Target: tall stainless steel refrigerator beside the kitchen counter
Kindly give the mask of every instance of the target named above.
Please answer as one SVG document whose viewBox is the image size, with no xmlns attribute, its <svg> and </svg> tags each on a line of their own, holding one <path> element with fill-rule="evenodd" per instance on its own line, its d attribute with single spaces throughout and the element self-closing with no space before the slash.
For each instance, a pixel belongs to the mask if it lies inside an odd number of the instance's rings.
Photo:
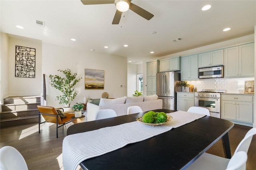
<svg viewBox="0 0 256 170">
<path fill-rule="evenodd" d="M 176 83 L 180 81 L 179 72 L 160 72 L 156 74 L 156 94 L 163 100 L 163 109 L 176 110 L 176 92 L 181 91 Z"/>
</svg>

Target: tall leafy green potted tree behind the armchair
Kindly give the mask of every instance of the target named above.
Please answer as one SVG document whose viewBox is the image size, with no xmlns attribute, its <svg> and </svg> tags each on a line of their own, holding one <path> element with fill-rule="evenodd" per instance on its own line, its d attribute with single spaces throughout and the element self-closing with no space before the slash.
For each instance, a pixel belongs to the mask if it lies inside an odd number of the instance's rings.
<svg viewBox="0 0 256 170">
<path fill-rule="evenodd" d="M 50 85 L 62 92 L 62 96 L 56 97 L 56 99 L 59 100 L 59 104 L 66 104 L 67 107 L 70 107 L 71 102 L 77 95 L 77 92 L 74 91 L 73 87 L 82 79 L 82 77 L 76 78 L 77 73 L 72 74 L 70 69 L 58 71 L 62 72 L 65 77 L 49 75 Z"/>
</svg>

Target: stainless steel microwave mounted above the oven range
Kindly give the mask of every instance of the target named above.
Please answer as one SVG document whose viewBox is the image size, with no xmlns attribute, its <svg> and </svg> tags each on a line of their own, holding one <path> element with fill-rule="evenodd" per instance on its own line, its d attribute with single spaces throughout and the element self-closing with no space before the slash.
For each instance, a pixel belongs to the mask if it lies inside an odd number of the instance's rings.
<svg viewBox="0 0 256 170">
<path fill-rule="evenodd" d="M 215 66 L 208 68 L 199 68 L 199 78 L 221 78 L 224 77 L 224 69 L 223 66 Z"/>
</svg>

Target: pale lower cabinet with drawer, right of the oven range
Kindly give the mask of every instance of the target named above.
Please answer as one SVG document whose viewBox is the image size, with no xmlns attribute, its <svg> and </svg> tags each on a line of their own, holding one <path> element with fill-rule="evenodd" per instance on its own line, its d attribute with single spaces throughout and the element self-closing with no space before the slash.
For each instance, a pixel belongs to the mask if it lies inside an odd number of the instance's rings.
<svg viewBox="0 0 256 170">
<path fill-rule="evenodd" d="M 236 124 L 252 126 L 254 95 L 222 94 L 221 118 Z"/>
</svg>

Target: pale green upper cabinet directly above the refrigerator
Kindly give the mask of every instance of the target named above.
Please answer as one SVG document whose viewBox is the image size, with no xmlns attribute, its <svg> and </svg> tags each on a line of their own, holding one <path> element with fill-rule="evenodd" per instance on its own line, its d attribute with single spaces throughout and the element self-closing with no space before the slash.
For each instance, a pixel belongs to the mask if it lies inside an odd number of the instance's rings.
<svg viewBox="0 0 256 170">
<path fill-rule="evenodd" d="M 160 60 L 159 71 L 178 71 L 180 70 L 180 56 L 171 59 Z"/>
</svg>

